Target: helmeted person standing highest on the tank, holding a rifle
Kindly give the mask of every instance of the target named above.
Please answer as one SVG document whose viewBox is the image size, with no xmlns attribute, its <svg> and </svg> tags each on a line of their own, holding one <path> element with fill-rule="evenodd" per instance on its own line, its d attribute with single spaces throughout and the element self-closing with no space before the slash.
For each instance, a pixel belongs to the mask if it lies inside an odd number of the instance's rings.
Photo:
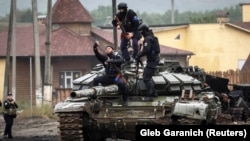
<svg viewBox="0 0 250 141">
<path fill-rule="evenodd" d="M 132 39 L 133 46 L 133 58 L 138 53 L 138 40 L 140 38 L 140 34 L 138 33 L 139 19 L 137 14 L 132 10 L 128 9 L 127 3 L 121 2 L 118 4 L 119 12 L 116 14 L 112 24 L 117 29 L 124 29 L 121 33 L 121 52 L 122 56 L 125 59 L 125 63 L 131 63 L 132 58 L 129 56 L 129 52 L 127 46 L 129 44 L 130 39 Z M 123 27 L 123 28 L 122 28 Z"/>
</svg>

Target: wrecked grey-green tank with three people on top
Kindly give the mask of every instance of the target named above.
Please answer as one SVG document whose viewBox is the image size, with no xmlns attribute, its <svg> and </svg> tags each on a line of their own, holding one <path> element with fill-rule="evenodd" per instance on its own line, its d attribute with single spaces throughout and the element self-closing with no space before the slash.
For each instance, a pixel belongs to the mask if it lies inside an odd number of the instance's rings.
<svg viewBox="0 0 250 141">
<path fill-rule="evenodd" d="M 203 69 L 184 68 L 178 61 L 161 60 L 153 76 L 158 96 L 146 102 L 144 66 L 132 63 L 121 70 L 130 91 L 126 106 L 122 105 L 117 85 L 92 86 L 93 79 L 104 74 L 101 64 L 74 80 L 70 97 L 54 108 L 61 140 L 135 140 L 135 126 L 139 124 L 168 125 L 178 122 L 180 117 L 199 122 L 215 120 L 220 104 L 212 91 L 203 91 L 206 79 Z M 191 101 L 187 101 L 186 92 L 192 92 L 188 96 Z M 184 107 L 188 110 L 180 110 Z"/>
</svg>

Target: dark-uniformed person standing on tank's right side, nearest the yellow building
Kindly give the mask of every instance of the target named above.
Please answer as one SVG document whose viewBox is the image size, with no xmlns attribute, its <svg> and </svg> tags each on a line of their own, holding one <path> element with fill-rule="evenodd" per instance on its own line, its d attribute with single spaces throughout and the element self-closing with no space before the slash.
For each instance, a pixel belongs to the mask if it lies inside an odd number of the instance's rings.
<svg viewBox="0 0 250 141">
<path fill-rule="evenodd" d="M 144 37 L 143 40 L 143 49 L 136 56 L 136 62 L 138 64 L 141 57 L 147 57 L 146 67 L 143 71 L 143 82 L 146 86 L 146 97 L 145 101 L 152 101 L 153 97 L 157 96 L 157 93 L 154 89 L 154 83 L 152 77 L 155 73 L 156 66 L 159 64 L 160 57 L 159 51 L 155 52 L 155 36 L 153 35 L 152 30 L 149 30 L 149 27 L 146 24 L 142 24 L 138 27 L 139 32 Z M 158 41 L 157 41 L 158 43 Z M 158 47 L 159 48 L 159 47 Z M 158 49 L 159 50 L 159 49 Z"/>
</svg>

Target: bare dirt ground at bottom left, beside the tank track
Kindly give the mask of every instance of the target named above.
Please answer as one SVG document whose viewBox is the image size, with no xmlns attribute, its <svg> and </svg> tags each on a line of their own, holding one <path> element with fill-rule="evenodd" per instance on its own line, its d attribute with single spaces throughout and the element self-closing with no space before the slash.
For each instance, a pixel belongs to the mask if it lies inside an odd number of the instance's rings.
<svg viewBox="0 0 250 141">
<path fill-rule="evenodd" d="M 56 119 L 17 117 L 12 127 L 13 139 L 3 139 L 5 122 L 0 114 L 0 141 L 58 141 L 58 124 Z"/>
</svg>

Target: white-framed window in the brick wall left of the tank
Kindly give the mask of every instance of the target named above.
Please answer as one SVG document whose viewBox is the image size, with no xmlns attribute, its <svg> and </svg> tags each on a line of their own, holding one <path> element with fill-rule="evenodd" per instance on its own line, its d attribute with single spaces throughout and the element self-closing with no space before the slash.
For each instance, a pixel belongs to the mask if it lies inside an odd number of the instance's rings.
<svg viewBox="0 0 250 141">
<path fill-rule="evenodd" d="M 59 85 L 60 88 L 73 88 L 73 80 L 81 76 L 80 71 L 60 72 Z"/>
</svg>

